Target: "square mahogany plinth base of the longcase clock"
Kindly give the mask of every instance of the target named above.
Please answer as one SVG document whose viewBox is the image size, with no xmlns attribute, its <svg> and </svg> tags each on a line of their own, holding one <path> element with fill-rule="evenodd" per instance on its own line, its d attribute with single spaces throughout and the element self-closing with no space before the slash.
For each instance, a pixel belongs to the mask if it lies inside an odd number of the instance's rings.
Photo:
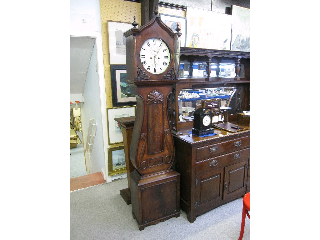
<svg viewBox="0 0 320 240">
<path fill-rule="evenodd" d="M 139 230 L 180 216 L 180 173 L 167 169 L 141 175 L 130 173 L 132 216 Z"/>
</svg>

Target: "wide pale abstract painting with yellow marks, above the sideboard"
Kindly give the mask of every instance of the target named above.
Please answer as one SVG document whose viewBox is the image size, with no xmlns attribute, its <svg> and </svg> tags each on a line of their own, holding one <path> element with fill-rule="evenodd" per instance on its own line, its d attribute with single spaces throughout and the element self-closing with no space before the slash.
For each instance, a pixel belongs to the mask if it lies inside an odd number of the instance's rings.
<svg viewBox="0 0 320 240">
<path fill-rule="evenodd" d="M 232 16 L 187 7 L 186 47 L 230 50 Z"/>
</svg>

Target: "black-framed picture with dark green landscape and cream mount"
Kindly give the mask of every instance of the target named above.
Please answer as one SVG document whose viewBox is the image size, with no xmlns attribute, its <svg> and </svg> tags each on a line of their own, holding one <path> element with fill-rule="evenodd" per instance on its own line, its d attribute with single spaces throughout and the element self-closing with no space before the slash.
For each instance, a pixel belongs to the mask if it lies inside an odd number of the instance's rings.
<svg viewBox="0 0 320 240">
<path fill-rule="evenodd" d="M 127 70 L 125 65 L 111 65 L 111 93 L 112 106 L 123 107 L 137 103 L 136 97 L 131 93 L 131 86 L 127 84 Z"/>
</svg>

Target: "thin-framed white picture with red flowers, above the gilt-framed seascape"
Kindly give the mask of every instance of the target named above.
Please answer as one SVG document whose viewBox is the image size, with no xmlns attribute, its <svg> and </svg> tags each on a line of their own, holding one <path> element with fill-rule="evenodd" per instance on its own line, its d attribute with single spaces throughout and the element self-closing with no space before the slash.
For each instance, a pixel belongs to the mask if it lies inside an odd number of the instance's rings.
<svg viewBox="0 0 320 240">
<path fill-rule="evenodd" d="M 123 108 L 107 108 L 108 119 L 108 140 L 109 144 L 123 142 L 122 130 L 118 126 L 115 118 L 135 116 L 136 106 L 128 106 Z"/>
</svg>

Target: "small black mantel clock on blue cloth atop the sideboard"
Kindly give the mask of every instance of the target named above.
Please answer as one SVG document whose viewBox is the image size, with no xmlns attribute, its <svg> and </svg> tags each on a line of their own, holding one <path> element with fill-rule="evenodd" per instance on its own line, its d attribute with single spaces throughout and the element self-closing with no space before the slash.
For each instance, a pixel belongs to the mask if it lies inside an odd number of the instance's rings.
<svg viewBox="0 0 320 240">
<path fill-rule="evenodd" d="M 192 134 L 202 137 L 212 133 L 214 133 L 212 112 L 206 108 L 198 108 L 193 113 Z"/>
</svg>

